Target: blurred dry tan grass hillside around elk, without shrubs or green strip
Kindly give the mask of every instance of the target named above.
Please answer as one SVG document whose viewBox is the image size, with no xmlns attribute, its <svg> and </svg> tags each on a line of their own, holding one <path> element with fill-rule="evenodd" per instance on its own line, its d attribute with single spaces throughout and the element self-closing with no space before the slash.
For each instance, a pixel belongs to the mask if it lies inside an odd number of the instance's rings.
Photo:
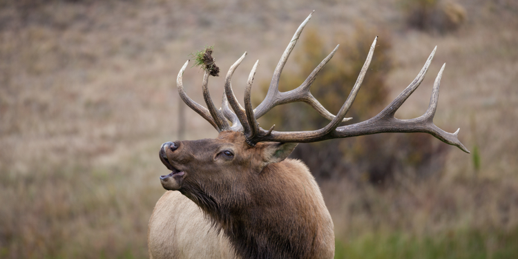
<svg viewBox="0 0 518 259">
<path fill-rule="evenodd" d="M 28 8 L 4 1 L 0 257 L 146 257 L 147 220 L 163 193 L 157 150 L 177 137 L 179 104 L 171 88 L 180 66 L 189 53 L 213 45 L 223 72 L 249 52 L 235 87 L 244 85 L 256 59 L 256 78 L 267 78 L 314 9 L 309 26 L 325 39 L 352 32 L 358 21 L 392 34 L 390 97 L 439 46 L 430 75 L 397 115 L 425 111 L 433 74 L 446 62 L 435 122 L 447 131 L 460 127 L 461 140 L 478 147 L 481 161 L 475 169 L 472 155 L 452 147 L 443 171 L 426 181 L 405 178 L 386 189 L 322 182 L 337 237 L 354 243 L 378 231 L 516 231 L 517 4 L 459 1 L 467 23 L 439 36 L 406 30 L 397 2 L 49 1 Z M 184 75 L 198 102 L 201 79 L 195 68 Z M 222 86 L 222 78 L 211 79 L 212 96 L 221 96 Z M 192 118 L 186 138 L 216 135 L 192 111 L 186 117 Z M 499 247 L 490 238 L 485 244 L 488 251 Z"/>
</svg>

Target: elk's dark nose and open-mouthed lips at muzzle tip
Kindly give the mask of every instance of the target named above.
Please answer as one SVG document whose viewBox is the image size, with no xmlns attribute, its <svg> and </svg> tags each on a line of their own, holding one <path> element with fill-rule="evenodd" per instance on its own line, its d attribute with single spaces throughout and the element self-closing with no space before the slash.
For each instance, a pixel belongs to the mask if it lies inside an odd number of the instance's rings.
<svg viewBox="0 0 518 259">
<path fill-rule="evenodd" d="M 162 144 L 160 148 L 160 160 L 167 167 L 167 169 L 171 170 L 171 173 L 168 175 L 160 175 L 160 183 L 162 183 L 162 187 L 166 190 L 176 191 L 182 187 L 185 178 L 185 172 L 176 169 L 169 158 L 167 157 L 168 153 L 175 152 L 180 145 L 175 142 L 166 142 Z"/>
</svg>

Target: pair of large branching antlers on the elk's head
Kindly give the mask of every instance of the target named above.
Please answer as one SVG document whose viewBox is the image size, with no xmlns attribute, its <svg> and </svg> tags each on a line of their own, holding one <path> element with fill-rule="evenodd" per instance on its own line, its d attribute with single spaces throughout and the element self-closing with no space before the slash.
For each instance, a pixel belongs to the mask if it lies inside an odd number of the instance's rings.
<svg viewBox="0 0 518 259">
<path fill-rule="evenodd" d="M 244 56 L 247 55 L 246 52 L 244 53 L 244 55 L 242 55 L 242 57 L 240 57 L 240 59 L 238 59 L 238 61 L 236 61 L 235 64 L 231 66 L 231 68 L 229 69 L 229 73 L 227 73 L 227 77 L 225 79 L 225 93 L 222 104 L 222 113 L 214 108 L 212 101 L 210 100 L 209 92 L 207 90 L 207 73 L 204 76 L 203 89 L 205 102 L 207 103 L 207 107 L 209 109 L 207 110 L 207 108 L 204 108 L 199 104 L 196 104 L 191 99 L 189 99 L 189 97 L 186 96 L 182 86 L 182 73 L 187 63 L 182 67 L 182 70 L 180 70 L 180 74 L 178 75 L 177 83 L 180 96 L 189 107 L 193 108 L 194 111 L 202 115 L 204 119 L 207 119 L 207 121 L 209 121 L 216 129 L 218 129 L 218 131 L 243 131 L 244 135 L 246 136 L 247 143 L 251 146 L 255 145 L 258 142 L 267 141 L 308 143 L 329 140 L 334 138 L 355 137 L 360 135 L 370 135 L 376 133 L 422 132 L 429 133 L 430 135 L 437 137 L 439 140 L 447 144 L 457 146 L 462 151 L 470 153 L 470 151 L 468 151 L 468 149 L 466 149 L 466 147 L 463 146 L 463 144 L 457 138 L 460 128 L 457 129 L 455 133 L 447 133 L 443 131 L 441 128 L 435 126 L 435 124 L 433 123 L 435 111 L 437 110 L 437 101 L 439 99 L 439 86 L 441 84 L 441 76 L 443 74 L 445 64 L 443 65 L 443 67 L 439 71 L 439 74 L 437 75 L 437 78 L 435 79 L 432 97 L 430 98 L 430 105 L 428 106 L 428 110 L 426 111 L 426 113 L 414 119 L 396 119 L 396 117 L 394 117 L 394 114 L 399 109 L 399 107 L 401 107 L 403 102 L 405 102 L 405 100 L 408 97 L 410 97 L 412 93 L 414 93 L 414 90 L 416 90 L 416 88 L 423 81 L 425 74 L 428 71 L 428 68 L 430 67 L 430 63 L 432 62 L 437 46 L 434 48 L 434 50 L 428 57 L 428 60 L 425 62 L 425 65 L 423 66 L 419 74 L 416 76 L 414 81 L 412 81 L 412 83 L 409 86 L 407 86 L 407 88 L 405 88 L 405 90 L 403 90 L 403 92 L 400 95 L 398 95 L 398 97 L 396 97 L 394 101 L 392 101 L 387 107 L 385 107 L 383 111 L 381 111 L 381 113 L 378 113 L 378 115 L 372 117 L 371 119 L 367 119 L 364 122 L 358 122 L 356 124 L 351 124 L 347 126 L 339 126 L 341 122 L 346 122 L 349 119 L 351 119 L 345 118 L 345 115 L 347 114 L 347 111 L 349 111 L 349 108 L 354 102 L 354 99 L 358 94 L 358 90 L 360 89 L 363 78 L 365 77 L 365 73 L 367 73 L 367 69 L 369 68 L 372 55 L 374 54 L 374 48 L 376 46 L 376 41 L 378 37 L 374 39 L 369 54 L 367 55 L 367 59 L 365 59 L 365 64 L 363 64 L 360 74 L 358 75 L 358 79 L 356 79 L 356 83 L 354 84 L 351 93 L 349 93 L 349 97 L 347 97 L 345 103 L 340 108 L 340 111 L 338 111 L 338 114 L 336 116 L 332 115 L 332 113 L 329 113 L 329 111 L 327 111 L 313 97 L 313 95 L 311 95 L 311 93 L 309 92 L 309 88 L 311 87 L 311 84 L 313 84 L 313 82 L 315 81 L 318 72 L 320 72 L 320 70 L 322 70 L 325 64 L 327 64 L 327 62 L 333 57 L 334 53 L 338 49 L 338 46 L 336 46 L 336 48 L 334 48 L 334 50 L 329 55 L 327 55 L 327 57 L 323 61 L 320 62 L 320 64 L 303 82 L 303 84 L 301 84 L 294 90 L 280 92 L 278 90 L 278 84 L 280 79 L 280 73 L 282 73 L 282 68 L 284 68 L 289 54 L 291 53 L 291 50 L 293 50 L 296 41 L 298 41 L 298 38 L 300 37 L 300 33 L 305 27 L 307 21 L 309 21 L 309 19 L 311 18 L 312 13 L 313 12 L 311 12 L 311 14 L 305 19 L 305 21 L 303 21 L 303 23 L 300 24 L 298 30 L 295 32 L 294 37 L 289 42 L 285 52 L 282 54 L 282 57 L 280 58 L 276 70 L 274 71 L 274 76 L 271 79 L 268 93 L 265 99 L 261 102 L 261 104 L 259 104 L 259 106 L 257 106 L 255 110 L 252 108 L 250 102 L 250 95 L 253 76 L 256 73 L 258 61 L 253 66 L 251 73 L 249 75 L 249 79 L 247 81 L 247 88 L 244 93 L 244 108 L 242 108 L 242 106 L 237 101 L 236 96 L 233 94 L 233 90 L 231 87 L 231 77 L 233 75 L 233 72 L 244 59 Z M 316 131 L 273 131 L 275 125 L 271 126 L 271 128 L 268 131 L 266 131 L 265 129 L 259 126 L 257 122 L 257 119 L 259 117 L 265 115 L 265 113 L 267 113 L 269 110 L 271 110 L 271 108 L 274 108 L 275 106 L 278 106 L 280 104 L 287 104 L 290 102 L 306 102 L 310 104 L 312 107 L 314 107 L 316 111 L 320 113 L 320 115 L 323 115 L 323 117 L 331 120 L 331 122 L 329 122 L 329 124 L 327 124 L 327 126 L 325 126 L 324 128 L 320 128 Z M 230 104 L 234 113 L 230 111 L 228 104 Z M 228 123 L 224 119 L 222 119 L 223 115 L 233 122 L 232 127 L 229 127 Z"/>
</svg>

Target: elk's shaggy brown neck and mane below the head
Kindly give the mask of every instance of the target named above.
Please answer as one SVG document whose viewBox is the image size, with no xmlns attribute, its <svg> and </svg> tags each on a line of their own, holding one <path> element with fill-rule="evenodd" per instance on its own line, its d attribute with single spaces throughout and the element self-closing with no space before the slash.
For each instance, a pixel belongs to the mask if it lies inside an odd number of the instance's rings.
<svg viewBox="0 0 518 259">
<path fill-rule="evenodd" d="M 253 185 L 218 186 L 227 189 L 219 198 L 213 186 L 194 182 L 185 182 L 180 191 L 224 231 L 241 258 L 316 258 L 323 215 L 319 201 L 308 197 L 316 183 L 307 179 L 312 177 L 305 166 L 285 160 L 254 175 Z M 294 186 L 300 188 L 293 191 Z"/>
</svg>

